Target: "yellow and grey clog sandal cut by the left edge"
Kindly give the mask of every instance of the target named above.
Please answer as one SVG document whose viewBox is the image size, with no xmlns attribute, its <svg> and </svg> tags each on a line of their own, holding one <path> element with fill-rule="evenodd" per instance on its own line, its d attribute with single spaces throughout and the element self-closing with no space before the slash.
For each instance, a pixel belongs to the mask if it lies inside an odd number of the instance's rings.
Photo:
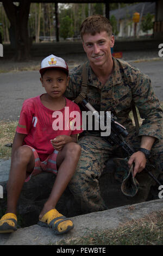
<svg viewBox="0 0 163 256">
<path fill-rule="evenodd" d="M 17 217 L 15 214 L 5 214 L 0 220 L 0 234 L 12 233 L 17 230 Z"/>
</svg>

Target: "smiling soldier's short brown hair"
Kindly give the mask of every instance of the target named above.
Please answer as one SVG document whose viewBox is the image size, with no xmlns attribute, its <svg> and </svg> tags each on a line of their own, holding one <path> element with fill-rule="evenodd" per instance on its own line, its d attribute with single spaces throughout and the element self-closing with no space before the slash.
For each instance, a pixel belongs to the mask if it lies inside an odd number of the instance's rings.
<svg viewBox="0 0 163 256">
<path fill-rule="evenodd" d="M 96 33 L 100 33 L 106 31 L 109 36 L 112 35 L 112 26 L 110 21 L 99 14 L 92 15 L 90 17 L 87 17 L 81 27 L 80 27 L 80 36 L 83 40 L 84 34 L 91 34 L 95 35 Z"/>
</svg>

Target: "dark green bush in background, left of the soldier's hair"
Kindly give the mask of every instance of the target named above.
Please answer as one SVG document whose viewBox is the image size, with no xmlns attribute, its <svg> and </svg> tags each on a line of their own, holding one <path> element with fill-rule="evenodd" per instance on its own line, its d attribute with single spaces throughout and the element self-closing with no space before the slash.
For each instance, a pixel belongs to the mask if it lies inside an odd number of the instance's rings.
<svg viewBox="0 0 163 256">
<path fill-rule="evenodd" d="M 73 36 L 72 19 L 68 16 L 63 17 L 60 22 L 60 36 L 64 39 Z"/>
</svg>

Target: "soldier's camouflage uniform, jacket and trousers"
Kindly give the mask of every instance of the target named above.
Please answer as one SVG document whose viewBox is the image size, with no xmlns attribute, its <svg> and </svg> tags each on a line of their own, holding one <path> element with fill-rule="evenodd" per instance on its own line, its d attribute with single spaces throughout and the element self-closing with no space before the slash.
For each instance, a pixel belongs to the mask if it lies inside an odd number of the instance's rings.
<svg viewBox="0 0 163 256">
<path fill-rule="evenodd" d="M 155 174 L 158 176 L 163 166 L 163 114 L 159 101 L 153 92 L 148 76 L 123 60 L 113 58 L 113 61 L 114 71 L 104 86 L 98 81 L 87 62 L 88 92 L 86 99 L 97 111 L 111 111 L 116 115 L 118 123 L 125 126 L 129 132 L 127 142 L 135 149 L 140 147 L 141 136 L 147 135 L 156 138 L 152 148 L 152 161 L 157 167 Z M 82 70 L 83 65 L 70 72 L 71 80 L 66 90 L 66 97 L 70 100 L 74 100 L 79 95 Z M 140 117 L 144 119 L 138 135 L 129 118 L 132 100 L 139 109 Z M 100 195 L 98 179 L 103 172 L 105 162 L 115 154 L 115 151 L 117 152 L 117 146 L 112 147 L 106 143 L 99 137 L 97 131 L 84 131 L 79 139 L 79 144 L 82 147 L 82 155 L 70 183 L 70 189 L 80 202 L 84 212 L 105 210 L 106 206 Z M 146 200 L 153 180 L 143 171 L 136 174 L 136 179 L 140 182 L 140 202 Z M 145 191 L 147 184 L 148 189 Z"/>
</svg>

